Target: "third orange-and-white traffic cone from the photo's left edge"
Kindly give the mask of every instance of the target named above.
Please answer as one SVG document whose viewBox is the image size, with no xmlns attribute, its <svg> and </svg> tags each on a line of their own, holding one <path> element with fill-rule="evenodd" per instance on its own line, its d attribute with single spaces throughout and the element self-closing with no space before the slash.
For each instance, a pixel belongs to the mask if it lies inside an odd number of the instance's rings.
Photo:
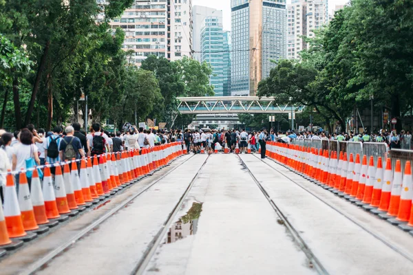
<svg viewBox="0 0 413 275">
<path fill-rule="evenodd" d="M 23 168 L 21 169 L 23 170 Z M 30 191 L 28 179 L 25 172 L 21 172 L 19 175 L 19 206 L 21 211 L 21 221 L 23 221 L 24 230 L 36 230 L 39 229 L 39 225 L 34 218 L 34 211 L 32 206 L 32 200 L 30 199 Z"/>
</svg>

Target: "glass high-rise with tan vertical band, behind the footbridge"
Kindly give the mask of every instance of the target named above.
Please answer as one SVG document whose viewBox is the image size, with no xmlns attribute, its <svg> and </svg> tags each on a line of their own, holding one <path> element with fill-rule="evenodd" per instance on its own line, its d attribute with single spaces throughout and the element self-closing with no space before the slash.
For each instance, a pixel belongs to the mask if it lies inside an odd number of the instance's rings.
<svg viewBox="0 0 413 275">
<path fill-rule="evenodd" d="M 231 94 L 255 96 L 258 83 L 286 58 L 286 0 L 231 0 Z"/>
</svg>

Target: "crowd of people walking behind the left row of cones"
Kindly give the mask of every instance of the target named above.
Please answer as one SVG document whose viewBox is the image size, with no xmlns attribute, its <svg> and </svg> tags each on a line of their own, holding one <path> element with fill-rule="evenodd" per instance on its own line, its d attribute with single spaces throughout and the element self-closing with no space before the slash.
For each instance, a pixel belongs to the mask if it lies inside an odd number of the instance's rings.
<svg viewBox="0 0 413 275">
<path fill-rule="evenodd" d="M 54 164 L 129 148 L 148 148 L 175 141 L 183 141 L 180 130 L 147 130 L 131 126 L 129 129 L 109 133 L 99 123 L 92 124 L 89 133 L 85 133 L 77 122 L 65 129 L 55 126 L 48 132 L 35 129 L 33 124 L 14 133 L 0 129 L 0 197 L 3 199 L 2 186 L 6 185 L 6 173 L 9 170 L 19 172 L 46 163 Z M 54 174 L 54 167 L 51 172 Z M 14 174 L 19 192 L 19 175 Z M 29 186 L 30 181 L 28 178 Z"/>
</svg>

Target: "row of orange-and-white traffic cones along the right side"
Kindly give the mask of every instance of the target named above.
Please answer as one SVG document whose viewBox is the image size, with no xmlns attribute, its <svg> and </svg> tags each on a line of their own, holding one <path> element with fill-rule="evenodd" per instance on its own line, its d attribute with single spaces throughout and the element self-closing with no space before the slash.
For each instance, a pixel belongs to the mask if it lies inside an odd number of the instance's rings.
<svg viewBox="0 0 413 275">
<path fill-rule="evenodd" d="M 405 231 L 413 234 L 413 182 L 410 162 L 392 162 L 378 157 L 322 150 L 293 144 L 269 142 L 267 156 L 275 159 L 323 186 L 340 197 L 348 199 Z"/>
</svg>

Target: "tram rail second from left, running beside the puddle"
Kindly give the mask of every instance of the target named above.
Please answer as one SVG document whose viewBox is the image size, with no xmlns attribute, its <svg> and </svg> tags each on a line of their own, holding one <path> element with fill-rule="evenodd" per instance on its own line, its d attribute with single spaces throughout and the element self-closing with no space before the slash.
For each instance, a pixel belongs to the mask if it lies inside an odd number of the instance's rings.
<svg viewBox="0 0 413 275">
<path fill-rule="evenodd" d="M 198 179 L 198 176 L 200 175 L 200 172 L 202 171 L 204 166 L 207 164 L 208 159 L 209 159 L 209 155 L 208 155 L 207 159 L 205 159 L 202 166 L 198 169 L 198 172 L 195 174 L 193 179 L 191 179 L 191 181 L 189 182 L 189 185 L 187 186 L 184 193 L 180 197 L 178 203 L 176 203 L 173 210 L 168 215 L 167 220 L 163 223 L 161 228 L 158 230 L 157 234 L 153 237 L 153 239 L 147 245 L 147 249 L 145 250 L 145 252 L 141 256 L 140 261 L 138 262 L 138 264 L 136 265 L 134 270 L 132 270 L 130 272 L 131 275 L 135 275 L 135 274 L 136 275 L 141 275 L 141 274 L 145 273 L 147 265 L 151 261 L 151 259 L 153 257 L 153 254 L 155 254 L 155 252 L 158 249 L 162 239 L 167 234 L 167 232 L 169 230 L 169 227 L 171 226 L 173 221 L 175 221 L 176 215 L 180 211 L 180 208 L 182 207 L 182 204 L 184 203 L 185 199 L 187 199 L 187 196 L 188 196 L 189 192 L 191 191 L 191 189 L 193 187 L 193 184 L 195 184 L 195 181 Z"/>
</svg>

